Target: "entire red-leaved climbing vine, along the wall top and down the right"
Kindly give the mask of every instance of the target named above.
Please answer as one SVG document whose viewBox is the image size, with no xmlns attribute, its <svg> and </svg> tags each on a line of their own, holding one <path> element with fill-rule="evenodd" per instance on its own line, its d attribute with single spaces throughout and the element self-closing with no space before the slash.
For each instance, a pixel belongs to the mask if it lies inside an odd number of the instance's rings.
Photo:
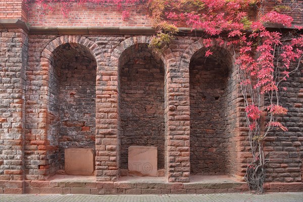
<svg viewBox="0 0 303 202">
<path fill-rule="evenodd" d="M 32 0 L 26 0 L 28 2 Z M 265 10 L 265 0 L 35 0 L 41 8 L 52 9 L 52 3 L 62 4 L 62 13 L 67 16 L 69 5 L 78 2 L 111 4 L 122 10 L 127 19 L 127 6 L 144 4 L 154 20 L 156 35 L 150 46 L 161 48 L 170 43 L 178 33 L 177 27 L 201 29 L 204 45 L 209 48 L 205 56 L 212 55 L 211 38 L 219 44 L 232 47 L 236 58 L 239 83 L 244 98 L 244 110 L 251 148 L 251 162 L 248 163 L 244 179 L 251 190 L 262 193 L 265 180 L 266 160 L 263 142 L 273 129 L 286 131 L 277 121 L 287 109 L 279 102 L 281 83 L 298 71 L 303 64 L 303 35 L 300 27 L 282 34 L 269 31 L 270 24 L 291 27 L 291 13 L 294 0 L 277 0 L 271 11 Z M 251 13 L 252 12 L 252 13 Z M 264 103 L 264 99 L 267 102 Z M 266 119 L 267 118 L 267 119 Z M 266 123 L 265 123 L 266 121 Z"/>
</svg>

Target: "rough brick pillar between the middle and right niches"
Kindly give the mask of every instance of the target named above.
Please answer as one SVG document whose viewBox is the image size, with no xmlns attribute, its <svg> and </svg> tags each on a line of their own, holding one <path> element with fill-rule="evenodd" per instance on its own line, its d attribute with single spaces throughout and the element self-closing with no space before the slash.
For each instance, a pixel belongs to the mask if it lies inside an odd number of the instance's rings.
<svg viewBox="0 0 303 202">
<path fill-rule="evenodd" d="M 166 171 L 169 182 L 189 182 L 189 65 L 177 67 L 175 58 L 166 58 Z"/>
</svg>

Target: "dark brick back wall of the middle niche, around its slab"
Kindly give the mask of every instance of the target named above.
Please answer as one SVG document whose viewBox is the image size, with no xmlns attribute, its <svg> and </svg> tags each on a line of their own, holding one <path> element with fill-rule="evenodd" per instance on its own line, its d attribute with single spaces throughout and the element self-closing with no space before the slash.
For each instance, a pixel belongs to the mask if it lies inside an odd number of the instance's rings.
<svg viewBox="0 0 303 202">
<path fill-rule="evenodd" d="M 131 145 L 157 146 L 158 168 L 164 168 L 164 68 L 147 46 L 133 46 L 121 56 L 122 169 L 128 168 Z"/>
</svg>

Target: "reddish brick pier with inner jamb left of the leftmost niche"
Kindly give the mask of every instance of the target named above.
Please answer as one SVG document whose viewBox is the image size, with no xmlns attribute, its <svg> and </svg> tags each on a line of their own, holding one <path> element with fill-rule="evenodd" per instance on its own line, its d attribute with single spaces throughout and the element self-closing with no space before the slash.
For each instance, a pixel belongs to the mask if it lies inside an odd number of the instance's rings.
<svg viewBox="0 0 303 202">
<path fill-rule="evenodd" d="M 30 43 L 31 51 L 37 48 L 38 44 Z M 54 45 L 52 48 L 47 45 L 44 50 L 29 54 L 26 72 L 26 180 L 43 180 L 57 171 L 58 138 L 54 135 L 57 132 L 54 122 L 58 119 L 58 112 L 54 110 L 53 103 L 57 99 L 58 90 L 54 86 L 58 81 L 52 76 L 55 75 L 54 67 L 49 62 L 54 60 L 52 52 L 55 48 Z M 40 63 L 36 65 L 35 62 L 39 60 Z"/>
</svg>

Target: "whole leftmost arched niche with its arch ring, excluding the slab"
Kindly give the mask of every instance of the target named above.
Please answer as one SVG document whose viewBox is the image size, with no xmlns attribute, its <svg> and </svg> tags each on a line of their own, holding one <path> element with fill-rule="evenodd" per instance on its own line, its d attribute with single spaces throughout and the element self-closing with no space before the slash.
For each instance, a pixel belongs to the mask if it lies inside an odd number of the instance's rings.
<svg viewBox="0 0 303 202">
<path fill-rule="evenodd" d="M 96 71 L 104 60 L 98 45 L 80 35 L 57 37 L 43 49 L 42 81 L 37 77 L 32 84 L 46 92 L 41 95 L 46 100 L 41 124 L 35 130 L 45 134 L 45 141 L 39 142 L 44 164 L 30 173 L 54 175 L 64 170 L 65 148 L 95 148 Z"/>
</svg>

